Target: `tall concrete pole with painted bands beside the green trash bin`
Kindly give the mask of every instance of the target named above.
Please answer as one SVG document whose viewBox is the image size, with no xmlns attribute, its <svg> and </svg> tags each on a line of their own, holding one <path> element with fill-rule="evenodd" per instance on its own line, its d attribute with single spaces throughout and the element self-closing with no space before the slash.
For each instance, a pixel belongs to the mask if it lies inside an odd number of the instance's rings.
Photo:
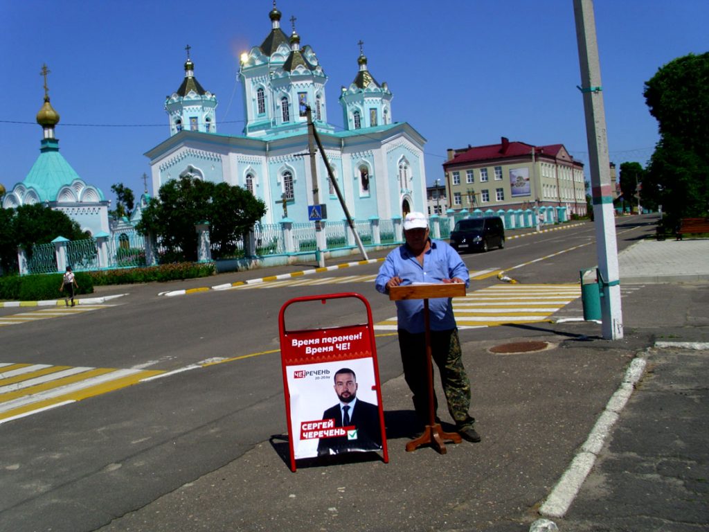
<svg viewBox="0 0 709 532">
<path fill-rule="evenodd" d="M 592 0 L 574 0 L 576 40 L 581 66 L 581 93 L 586 114 L 588 159 L 591 166 L 591 197 L 593 219 L 596 225 L 596 253 L 598 255 L 598 282 L 603 289 L 601 318 L 603 338 L 623 338 L 623 314 L 620 308 L 620 280 L 618 270 L 618 242 L 613 219 L 613 190 L 610 186 L 608 137 L 605 131 L 601 62 L 598 59 L 596 20 Z"/>
</svg>

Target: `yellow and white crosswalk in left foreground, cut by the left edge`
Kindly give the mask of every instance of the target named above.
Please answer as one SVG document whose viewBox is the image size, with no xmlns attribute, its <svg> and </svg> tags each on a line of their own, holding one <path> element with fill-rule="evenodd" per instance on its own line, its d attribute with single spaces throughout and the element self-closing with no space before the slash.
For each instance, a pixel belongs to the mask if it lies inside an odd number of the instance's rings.
<svg viewBox="0 0 709 532">
<path fill-rule="evenodd" d="M 0 362 L 0 423 L 105 394 L 162 373 Z"/>
</svg>

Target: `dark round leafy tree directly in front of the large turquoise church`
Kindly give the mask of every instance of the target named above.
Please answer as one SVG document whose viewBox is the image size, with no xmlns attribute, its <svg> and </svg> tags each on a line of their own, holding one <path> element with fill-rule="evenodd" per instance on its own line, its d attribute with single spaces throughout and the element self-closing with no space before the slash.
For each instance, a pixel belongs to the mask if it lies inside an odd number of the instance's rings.
<svg viewBox="0 0 709 532">
<path fill-rule="evenodd" d="M 196 223 L 210 224 L 211 242 L 225 254 L 266 214 L 264 202 L 247 190 L 190 176 L 169 180 L 158 196 L 143 209 L 138 231 L 152 233 L 171 258 L 182 260 L 197 258 Z"/>
</svg>

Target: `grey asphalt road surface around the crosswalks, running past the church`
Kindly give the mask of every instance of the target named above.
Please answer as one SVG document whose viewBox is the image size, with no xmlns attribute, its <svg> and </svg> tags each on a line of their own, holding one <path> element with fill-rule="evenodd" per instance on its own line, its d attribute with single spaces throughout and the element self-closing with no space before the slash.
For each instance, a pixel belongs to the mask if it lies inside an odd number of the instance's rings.
<svg viewBox="0 0 709 532">
<path fill-rule="evenodd" d="M 647 218 L 623 220 L 617 228 L 619 250 L 652 231 Z M 523 283 L 574 283 L 581 268 L 596 265 L 595 233 L 586 223 L 510 238 L 503 250 L 464 260 L 471 271 L 504 270 Z M 373 275 L 377 269 L 362 265 L 313 277 Z M 220 282 L 128 287 L 127 295 L 114 300 L 116 306 L 0 328 L 0 362 L 167 373 L 0 424 L 0 530 L 96 530 L 284 433 L 278 314 L 286 300 L 359 292 L 372 305 L 374 323 L 395 314 L 371 282 L 354 280 L 158 295 Z M 469 292 L 498 283 L 494 276 L 474 281 Z M 286 318 L 304 328 L 362 322 L 357 306 L 326 307 Z M 580 316 L 580 308 L 576 300 L 559 314 Z M 13 312 L 0 309 L 0 316 Z M 519 333 L 496 327 L 461 336 L 470 342 Z M 401 375 L 396 336 L 378 335 L 376 343 L 381 381 L 393 381 Z M 207 360 L 220 363 L 204 365 Z M 276 466 L 286 467 L 281 460 Z"/>
</svg>

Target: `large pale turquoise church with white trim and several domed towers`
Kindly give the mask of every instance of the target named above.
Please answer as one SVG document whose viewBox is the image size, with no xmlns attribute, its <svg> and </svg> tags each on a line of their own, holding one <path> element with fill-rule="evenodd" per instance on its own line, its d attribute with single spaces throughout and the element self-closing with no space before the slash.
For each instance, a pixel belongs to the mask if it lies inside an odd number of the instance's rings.
<svg viewBox="0 0 709 532">
<path fill-rule="evenodd" d="M 316 172 L 311 172 L 309 106 L 352 218 L 389 219 L 424 211 L 425 138 L 408 123 L 393 121 L 393 95 L 369 72 L 362 43 L 354 80 L 340 92 L 344 127 L 337 131 L 328 121 L 328 78 L 313 48 L 301 47 L 295 28 L 290 36 L 281 30 L 281 12 L 275 6 L 269 18 L 267 37 L 240 57 L 242 135 L 218 133 L 216 96 L 197 82 L 187 48 L 184 80 L 165 102 L 170 136 L 145 153 L 154 193 L 183 175 L 227 182 L 264 201 L 262 223 L 277 223 L 286 216 L 308 221 L 313 189 L 318 189 L 328 220 L 341 221 L 345 212 L 320 153 Z"/>
</svg>

